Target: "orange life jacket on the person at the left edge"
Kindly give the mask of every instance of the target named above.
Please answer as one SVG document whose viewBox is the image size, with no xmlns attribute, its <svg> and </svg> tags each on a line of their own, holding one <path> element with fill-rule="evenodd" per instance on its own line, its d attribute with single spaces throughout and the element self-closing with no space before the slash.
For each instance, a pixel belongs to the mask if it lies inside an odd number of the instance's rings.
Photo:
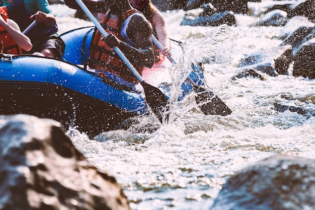
<svg viewBox="0 0 315 210">
<path fill-rule="evenodd" d="M 0 7 L 0 14 L 3 19 L 7 22 L 9 19 L 7 8 Z M 0 26 L 0 39 L 3 42 L 3 52 L 7 54 L 22 54 L 22 48 L 17 45 L 15 40 L 11 37 L 11 35 L 6 31 L 6 29 Z"/>
</svg>

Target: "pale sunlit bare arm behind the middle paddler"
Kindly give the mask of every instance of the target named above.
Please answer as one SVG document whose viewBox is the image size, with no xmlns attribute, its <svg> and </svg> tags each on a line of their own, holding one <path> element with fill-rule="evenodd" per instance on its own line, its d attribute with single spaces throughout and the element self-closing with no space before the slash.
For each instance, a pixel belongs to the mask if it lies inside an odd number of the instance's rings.
<svg viewBox="0 0 315 210">
<path fill-rule="evenodd" d="M 165 56 L 172 56 L 171 43 L 165 26 L 165 20 L 160 12 L 155 12 L 152 17 L 152 25 L 154 26 L 157 37 L 155 37 L 164 46 L 160 52 Z"/>
</svg>

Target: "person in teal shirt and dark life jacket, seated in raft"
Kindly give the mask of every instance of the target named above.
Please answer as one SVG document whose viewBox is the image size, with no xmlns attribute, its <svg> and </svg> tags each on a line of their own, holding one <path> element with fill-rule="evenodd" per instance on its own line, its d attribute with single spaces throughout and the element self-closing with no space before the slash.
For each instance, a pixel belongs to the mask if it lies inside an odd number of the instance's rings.
<svg viewBox="0 0 315 210">
<path fill-rule="evenodd" d="M 30 53 L 62 58 L 65 44 L 57 34 L 56 19 L 47 0 L 3 0 L 2 3 L 7 7 L 10 19 L 22 31 L 36 20 L 36 26 L 26 34 L 33 44 Z"/>
</svg>

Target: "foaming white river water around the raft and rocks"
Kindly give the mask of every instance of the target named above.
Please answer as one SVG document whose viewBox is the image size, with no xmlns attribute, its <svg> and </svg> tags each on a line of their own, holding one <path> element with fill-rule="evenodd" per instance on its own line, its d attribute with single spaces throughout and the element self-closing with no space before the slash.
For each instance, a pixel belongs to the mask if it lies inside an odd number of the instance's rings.
<svg viewBox="0 0 315 210">
<path fill-rule="evenodd" d="M 93 25 L 72 18 L 74 12 L 64 6 L 54 5 L 53 11 L 60 33 Z M 305 100 L 291 101 L 302 107 L 312 105 L 314 80 L 291 75 L 230 80 L 241 58 L 262 49 L 272 53 L 285 28 L 252 27 L 257 18 L 244 15 L 237 15 L 234 27 L 181 26 L 184 14 L 164 13 L 169 36 L 186 43 L 186 61 L 211 60 L 205 63 L 207 85 L 232 114 L 191 111 L 151 134 L 116 130 L 94 140 L 75 129 L 67 132 L 92 164 L 117 178 L 132 209 L 209 209 L 226 179 L 241 168 L 275 154 L 315 155 L 314 117 L 280 113 L 272 105 L 285 101 L 281 95 Z"/>
</svg>

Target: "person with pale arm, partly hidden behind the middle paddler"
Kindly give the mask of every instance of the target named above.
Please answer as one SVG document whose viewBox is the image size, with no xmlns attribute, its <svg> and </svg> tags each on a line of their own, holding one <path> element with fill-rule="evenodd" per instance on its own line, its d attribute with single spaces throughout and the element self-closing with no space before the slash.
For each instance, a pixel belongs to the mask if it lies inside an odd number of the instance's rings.
<svg viewBox="0 0 315 210">
<path fill-rule="evenodd" d="M 154 47 L 155 61 L 164 59 L 164 56 L 171 57 L 171 43 L 165 26 L 165 19 L 151 0 L 130 0 L 131 6 L 140 11 L 152 24 L 152 34 L 164 46 L 163 49 Z M 164 55 L 164 56 L 161 56 Z"/>
</svg>

